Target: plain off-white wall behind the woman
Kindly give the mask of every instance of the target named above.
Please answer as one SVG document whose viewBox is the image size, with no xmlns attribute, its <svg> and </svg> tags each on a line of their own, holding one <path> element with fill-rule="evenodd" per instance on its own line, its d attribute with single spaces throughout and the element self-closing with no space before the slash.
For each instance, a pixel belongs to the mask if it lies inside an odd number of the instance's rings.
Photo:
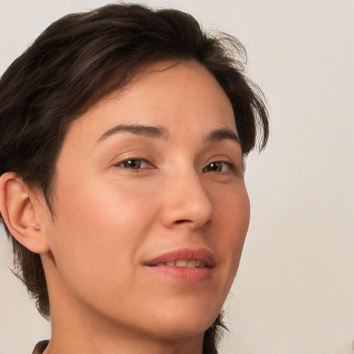
<svg viewBox="0 0 354 354">
<path fill-rule="evenodd" d="M 0 0 L 0 73 L 52 21 L 100 0 Z M 221 354 L 353 354 L 354 2 L 151 0 L 238 37 L 271 107 L 248 159 L 252 220 Z M 0 132 L 1 138 L 1 132 Z M 50 336 L 0 231 L 0 354 Z"/>
</svg>

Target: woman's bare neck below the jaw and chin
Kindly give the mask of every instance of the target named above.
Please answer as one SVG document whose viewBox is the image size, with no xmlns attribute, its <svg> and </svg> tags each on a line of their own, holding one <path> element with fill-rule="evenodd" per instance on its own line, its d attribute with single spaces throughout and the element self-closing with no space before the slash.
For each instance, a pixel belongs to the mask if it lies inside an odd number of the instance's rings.
<svg viewBox="0 0 354 354">
<path fill-rule="evenodd" d="M 73 297 L 55 274 L 48 279 L 52 337 L 44 354 L 201 354 L 203 351 L 204 333 L 161 335 L 122 326 L 116 319 Z"/>
</svg>

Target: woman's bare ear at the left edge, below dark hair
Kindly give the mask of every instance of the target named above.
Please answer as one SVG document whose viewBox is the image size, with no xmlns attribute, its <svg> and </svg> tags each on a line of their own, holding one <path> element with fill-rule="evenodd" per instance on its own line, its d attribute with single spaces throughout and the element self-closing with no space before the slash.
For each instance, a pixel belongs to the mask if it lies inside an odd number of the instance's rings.
<svg viewBox="0 0 354 354">
<path fill-rule="evenodd" d="M 48 241 L 41 230 L 40 203 L 29 191 L 22 178 L 15 172 L 6 172 L 0 177 L 0 211 L 11 234 L 28 250 L 35 253 L 48 252 Z M 35 207 L 37 205 L 37 208 Z"/>
</svg>

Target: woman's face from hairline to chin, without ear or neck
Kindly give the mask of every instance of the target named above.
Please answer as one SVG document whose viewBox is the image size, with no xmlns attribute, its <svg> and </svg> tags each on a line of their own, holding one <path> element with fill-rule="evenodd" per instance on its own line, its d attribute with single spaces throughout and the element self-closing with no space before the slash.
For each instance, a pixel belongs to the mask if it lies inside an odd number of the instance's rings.
<svg viewBox="0 0 354 354">
<path fill-rule="evenodd" d="M 203 335 L 218 315 L 250 212 L 227 96 L 201 64 L 172 64 L 72 124 L 44 229 L 61 301 L 170 339 Z"/>
</svg>

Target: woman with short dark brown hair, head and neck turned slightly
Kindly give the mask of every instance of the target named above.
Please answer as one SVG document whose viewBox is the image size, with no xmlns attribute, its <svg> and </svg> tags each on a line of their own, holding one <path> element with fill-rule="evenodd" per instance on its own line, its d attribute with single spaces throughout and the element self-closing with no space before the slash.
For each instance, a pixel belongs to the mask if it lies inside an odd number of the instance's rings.
<svg viewBox="0 0 354 354">
<path fill-rule="evenodd" d="M 217 353 L 268 138 L 244 49 L 176 10 L 49 26 L 0 82 L 0 209 L 50 318 L 34 353 Z M 236 59 L 235 59 L 236 58 Z"/>
</svg>

